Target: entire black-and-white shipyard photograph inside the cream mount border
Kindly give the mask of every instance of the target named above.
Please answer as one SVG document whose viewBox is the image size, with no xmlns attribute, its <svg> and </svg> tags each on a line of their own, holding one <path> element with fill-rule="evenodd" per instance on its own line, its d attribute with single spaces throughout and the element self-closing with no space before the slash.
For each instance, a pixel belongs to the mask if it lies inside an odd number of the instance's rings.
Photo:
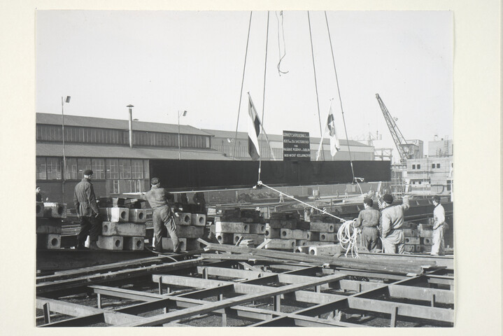
<svg viewBox="0 0 503 336">
<path fill-rule="evenodd" d="M 36 16 L 37 328 L 455 327 L 451 12 Z"/>
</svg>

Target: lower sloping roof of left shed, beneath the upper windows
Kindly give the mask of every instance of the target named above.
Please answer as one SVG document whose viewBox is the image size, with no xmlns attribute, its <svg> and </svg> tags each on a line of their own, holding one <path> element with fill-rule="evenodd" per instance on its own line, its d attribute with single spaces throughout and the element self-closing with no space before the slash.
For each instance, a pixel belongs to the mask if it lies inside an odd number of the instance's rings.
<svg viewBox="0 0 503 336">
<path fill-rule="evenodd" d="M 76 145 L 64 146 L 66 158 L 131 158 L 131 159 L 172 159 L 178 160 L 177 149 L 129 148 L 127 146 Z M 36 144 L 37 156 L 63 156 L 62 144 Z M 183 160 L 232 160 L 213 149 L 180 151 Z"/>
</svg>

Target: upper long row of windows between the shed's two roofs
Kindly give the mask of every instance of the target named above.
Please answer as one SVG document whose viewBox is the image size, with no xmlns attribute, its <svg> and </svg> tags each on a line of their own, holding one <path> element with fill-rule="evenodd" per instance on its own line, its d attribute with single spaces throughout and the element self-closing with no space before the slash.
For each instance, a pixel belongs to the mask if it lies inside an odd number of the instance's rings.
<svg viewBox="0 0 503 336">
<path fill-rule="evenodd" d="M 37 141 L 63 141 L 62 126 L 36 125 Z M 91 127 L 64 127 L 64 141 L 83 144 L 129 145 L 129 131 Z M 133 131 L 135 146 L 178 147 L 178 134 Z M 210 137 L 195 134 L 180 134 L 180 147 L 210 148 Z"/>
</svg>

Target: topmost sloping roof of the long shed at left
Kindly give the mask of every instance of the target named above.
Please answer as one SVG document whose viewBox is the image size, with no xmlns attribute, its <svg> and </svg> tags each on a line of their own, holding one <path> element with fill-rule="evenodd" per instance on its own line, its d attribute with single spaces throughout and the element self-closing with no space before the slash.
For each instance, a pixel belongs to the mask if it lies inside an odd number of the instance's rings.
<svg viewBox="0 0 503 336">
<path fill-rule="evenodd" d="M 52 113 L 36 113 L 36 123 L 45 125 L 61 125 L 62 116 L 60 114 Z M 129 120 L 107 119 L 107 118 L 94 118 L 83 116 L 67 116 L 64 115 L 64 125 L 77 126 L 77 127 L 97 127 L 97 128 L 110 128 L 113 130 L 129 130 Z M 163 123 L 148 123 L 146 121 L 133 121 L 134 131 L 145 132 L 162 132 L 162 133 L 176 133 L 178 134 L 178 125 L 163 124 Z M 190 125 L 180 125 L 181 134 L 195 134 L 211 137 L 209 134 L 202 130 L 192 127 Z"/>
</svg>

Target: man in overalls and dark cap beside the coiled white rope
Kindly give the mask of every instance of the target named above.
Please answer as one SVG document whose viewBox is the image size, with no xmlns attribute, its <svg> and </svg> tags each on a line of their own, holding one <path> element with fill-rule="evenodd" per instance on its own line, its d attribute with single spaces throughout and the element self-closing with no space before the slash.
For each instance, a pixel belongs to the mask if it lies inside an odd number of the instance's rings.
<svg viewBox="0 0 503 336">
<path fill-rule="evenodd" d="M 379 211 L 373 209 L 374 201 L 366 197 L 363 200 L 363 206 L 365 209 L 360 211 L 358 214 L 358 218 L 355 221 L 355 228 L 362 227 L 362 237 L 363 237 L 363 245 L 369 250 L 369 252 L 374 253 L 377 248 L 377 244 L 379 241 Z"/>
</svg>

